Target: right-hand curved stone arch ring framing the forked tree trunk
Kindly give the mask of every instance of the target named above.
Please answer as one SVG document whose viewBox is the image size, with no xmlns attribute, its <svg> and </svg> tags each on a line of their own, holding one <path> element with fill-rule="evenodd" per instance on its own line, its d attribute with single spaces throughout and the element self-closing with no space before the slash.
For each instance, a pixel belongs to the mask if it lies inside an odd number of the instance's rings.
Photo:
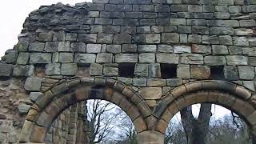
<svg viewBox="0 0 256 144">
<path fill-rule="evenodd" d="M 255 134 L 256 109 L 255 95 L 250 90 L 224 81 L 190 82 L 179 86 L 162 98 L 154 109 L 158 117 L 156 131 L 165 134 L 170 119 L 186 106 L 196 103 L 215 103 L 234 110 Z"/>
</svg>

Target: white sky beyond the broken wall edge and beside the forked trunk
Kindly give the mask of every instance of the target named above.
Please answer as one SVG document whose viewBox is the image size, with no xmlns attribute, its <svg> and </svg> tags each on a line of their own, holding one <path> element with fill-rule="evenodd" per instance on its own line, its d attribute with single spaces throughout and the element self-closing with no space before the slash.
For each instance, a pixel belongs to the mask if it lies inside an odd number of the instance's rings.
<svg viewBox="0 0 256 144">
<path fill-rule="evenodd" d="M 4 0 L 0 5 L 0 56 L 2 57 L 6 50 L 13 49 L 17 44 L 22 24 L 31 11 L 37 10 L 39 6 L 50 6 L 58 2 L 74 5 L 79 2 L 91 2 L 91 0 Z M 193 110 L 197 113 L 198 106 L 194 106 Z M 228 110 L 220 106 L 213 110 L 217 117 L 228 113 Z"/>
</svg>

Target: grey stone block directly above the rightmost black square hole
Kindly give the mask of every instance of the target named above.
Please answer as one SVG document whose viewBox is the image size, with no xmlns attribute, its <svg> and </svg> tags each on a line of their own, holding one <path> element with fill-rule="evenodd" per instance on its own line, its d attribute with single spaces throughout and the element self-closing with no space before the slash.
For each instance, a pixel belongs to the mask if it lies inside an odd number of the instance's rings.
<svg viewBox="0 0 256 144">
<path fill-rule="evenodd" d="M 225 66 L 226 58 L 224 56 L 206 56 L 204 62 L 207 66 Z"/>
</svg>

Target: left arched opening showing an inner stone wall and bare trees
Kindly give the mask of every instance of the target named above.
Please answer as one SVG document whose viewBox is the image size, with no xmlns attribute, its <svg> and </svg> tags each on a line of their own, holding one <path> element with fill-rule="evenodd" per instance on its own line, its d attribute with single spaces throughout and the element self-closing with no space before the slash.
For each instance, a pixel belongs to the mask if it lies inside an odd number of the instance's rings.
<svg viewBox="0 0 256 144">
<path fill-rule="evenodd" d="M 129 116 L 117 105 L 92 99 L 70 106 L 54 120 L 46 143 L 136 143 L 137 132 Z"/>
</svg>

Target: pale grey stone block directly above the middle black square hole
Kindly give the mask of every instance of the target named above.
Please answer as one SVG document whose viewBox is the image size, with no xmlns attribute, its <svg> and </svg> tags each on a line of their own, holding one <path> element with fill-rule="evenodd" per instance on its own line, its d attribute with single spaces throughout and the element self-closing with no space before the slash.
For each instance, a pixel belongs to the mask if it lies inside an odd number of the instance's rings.
<svg viewBox="0 0 256 144">
<path fill-rule="evenodd" d="M 178 54 L 156 54 L 158 63 L 178 64 Z"/>
</svg>

